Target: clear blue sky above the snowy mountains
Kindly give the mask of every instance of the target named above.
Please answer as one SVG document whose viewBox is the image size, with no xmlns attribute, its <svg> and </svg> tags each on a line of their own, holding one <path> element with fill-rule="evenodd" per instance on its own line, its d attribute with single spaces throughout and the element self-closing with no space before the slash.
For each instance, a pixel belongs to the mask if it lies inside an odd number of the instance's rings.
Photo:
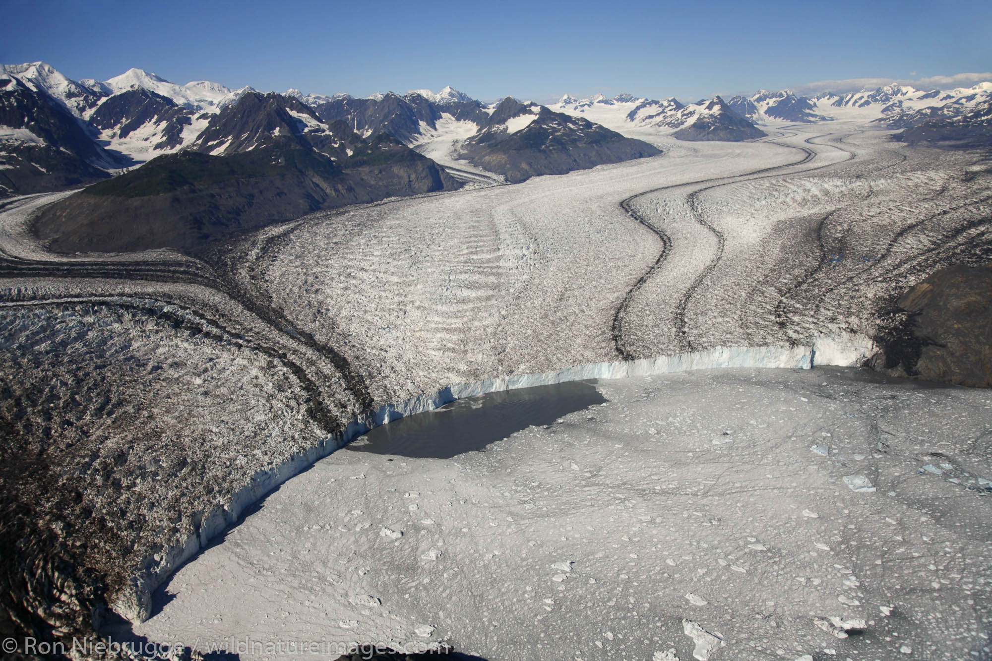
<svg viewBox="0 0 992 661">
<path fill-rule="evenodd" d="M 992 69 L 990 2 L 0 0 L 0 16 L 5 64 L 277 91 L 695 99 Z"/>
</svg>

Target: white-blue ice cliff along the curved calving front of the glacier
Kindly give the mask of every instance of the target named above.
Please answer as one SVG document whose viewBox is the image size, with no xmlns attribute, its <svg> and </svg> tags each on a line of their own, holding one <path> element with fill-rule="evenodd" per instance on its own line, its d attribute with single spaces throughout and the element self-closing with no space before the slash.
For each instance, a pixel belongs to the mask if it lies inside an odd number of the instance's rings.
<svg viewBox="0 0 992 661">
<path fill-rule="evenodd" d="M 595 362 L 557 371 L 511 374 L 470 383 L 456 383 L 434 393 L 412 397 L 397 404 L 386 404 L 351 421 L 343 432 L 324 439 L 307 452 L 281 463 L 272 470 L 256 473 L 251 483 L 238 491 L 230 503 L 218 506 L 204 515 L 197 534 L 190 535 L 183 544 L 164 549 L 154 557 L 146 558 L 143 570 L 132 578 L 128 589 L 124 590 L 110 607 L 132 622 L 145 621 L 151 616 L 152 593 L 187 560 L 205 548 L 214 536 L 231 527 L 247 507 L 290 477 L 339 450 L 370 429 L 405 416 L 433 411 L 464 397 L 582 379 L 618 379 L 728 367 L 809 369 L 813 364 L 847 367 L 867 358 L 873 348 L 870 339 L 854 333 L 822 336 L 809 344 L 715 346 L 707 350 L 655 358 Z"/>
</svg>

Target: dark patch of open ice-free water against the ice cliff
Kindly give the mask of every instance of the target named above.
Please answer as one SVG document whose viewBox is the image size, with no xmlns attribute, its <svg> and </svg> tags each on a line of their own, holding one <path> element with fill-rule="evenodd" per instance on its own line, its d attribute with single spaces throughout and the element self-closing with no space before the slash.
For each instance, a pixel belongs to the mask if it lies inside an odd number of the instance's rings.
<svg viewBox="0 0 992 661">
<path fill-rule="evenodd" d="M 569 381 L 466 397 L 376 427 L 347 449 L 414 459 L 450 459 L 482 450 L 532 425 L 550 425 L 565 414 L 602 404 L 606 400 L 593 383 L 595 379 Z"/>
</svg>

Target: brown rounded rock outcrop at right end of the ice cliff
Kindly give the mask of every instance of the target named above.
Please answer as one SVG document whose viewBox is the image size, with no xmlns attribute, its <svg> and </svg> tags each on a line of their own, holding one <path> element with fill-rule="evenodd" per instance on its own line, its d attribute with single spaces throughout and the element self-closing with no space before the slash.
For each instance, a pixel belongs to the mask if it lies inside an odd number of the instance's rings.
<svg viewBox="0 0 992 661">
<path fill-rule="evenodd" d="M 906 291 L 876 338 L 873 368 L 958 385 L 992 387 L 992 264 L 952 266 Z"/>
</svg>

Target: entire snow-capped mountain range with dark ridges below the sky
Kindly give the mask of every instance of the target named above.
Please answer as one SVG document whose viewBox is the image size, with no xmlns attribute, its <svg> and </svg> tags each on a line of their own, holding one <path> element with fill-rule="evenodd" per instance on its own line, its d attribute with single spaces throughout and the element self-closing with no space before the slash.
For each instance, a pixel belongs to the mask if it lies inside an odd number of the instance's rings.
<svg viewBox="0 0 992 661">
<path fill-rule="evenodd" d="M 193 250 L 321 208 L 656 156 L 664 136 L 751 140 L 767 135 L 763 125 L 856 120 L 898 129 L 905 142 L 987 144 L 990 107 L 989 82 L 694 103 L 566 94 L 545 106 L 486 104 L 452 87 L 263 94 L 137 68 L 98 81 L 44 63 L 5 65 L 0 198 L 89 187 L 40 217 L 56 249 Z"/>
</svg>

